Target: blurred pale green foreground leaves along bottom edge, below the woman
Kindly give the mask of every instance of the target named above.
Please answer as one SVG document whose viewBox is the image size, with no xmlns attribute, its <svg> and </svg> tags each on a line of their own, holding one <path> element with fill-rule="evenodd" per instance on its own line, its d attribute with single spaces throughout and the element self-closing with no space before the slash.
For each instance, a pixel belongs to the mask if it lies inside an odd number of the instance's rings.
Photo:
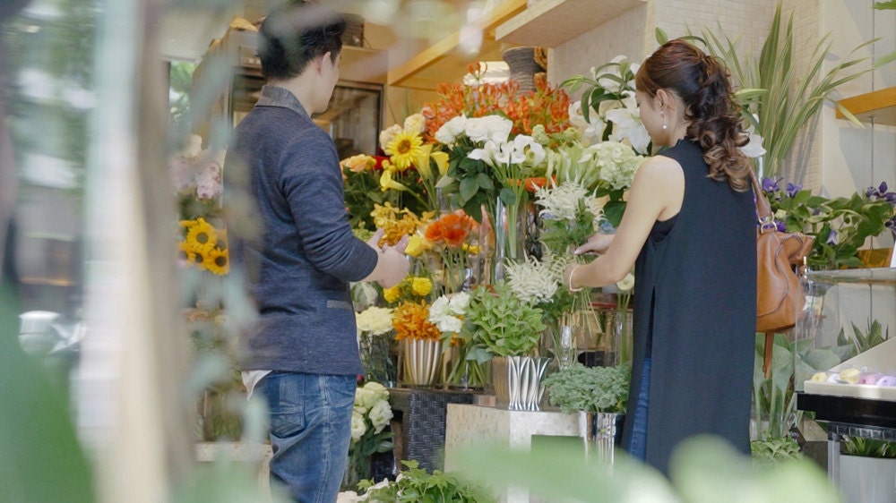
<svg viewBox="0 0 896 503">
<path fill-rule="evenodd" d="M 582 448 L 555 442 L 538 451 L 478 447 L 461 454 L 464 473 L 496 488 L 525 487 L 550 501 L 653 501 L 838 503 L 840 495 L 813 461 L 754 465 L 724 441 L 687 439 L 673 453 L 670 480 L 617 452 L 612 470 L 587 461 Z"/>
</svg>

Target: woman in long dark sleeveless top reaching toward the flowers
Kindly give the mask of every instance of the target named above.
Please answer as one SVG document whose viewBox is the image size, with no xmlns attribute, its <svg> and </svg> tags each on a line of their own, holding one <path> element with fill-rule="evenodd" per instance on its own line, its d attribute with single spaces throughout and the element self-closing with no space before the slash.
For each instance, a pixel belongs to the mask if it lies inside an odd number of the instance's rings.
<svg viewBox="0 0 896 503">
<path fill-rule="evenodd" d="M 728 71 L 682 40 L 635 76 L 641 119 L 669 147 L 638 170 L 616 234 L 576 253 L 570 289 L 605 286 L 634 266 L 634 352 L 623 443 L 668 474 L 684 439 L 709 433 L 749 453 L 756 305 L 755 207 L 739 147 L 747 136 Z"/>
</svg>

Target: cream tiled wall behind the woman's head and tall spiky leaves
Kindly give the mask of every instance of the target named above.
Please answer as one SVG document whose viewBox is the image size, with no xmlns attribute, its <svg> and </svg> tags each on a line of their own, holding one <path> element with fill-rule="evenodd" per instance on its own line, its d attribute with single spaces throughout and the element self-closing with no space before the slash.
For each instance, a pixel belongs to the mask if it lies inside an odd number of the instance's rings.
<svg viewBox="0 0 896 503">
<path fill-rule="evenodd" d="M 738 40 L 741 58 L 757 54 L 771 26 L 777 0 L 649 0 L 604 24 L 573 38 L 549 53 L 548 79 L 559 83 L 604 64 L 616 55 L 641 61 L 657 46 L 654 30 L 670 38 L 703 28 Z M 830 33 L 827 72 L 844 58 L 877 57 L 896 50 L 896 11 L 875 11 L 874 0 L 782 0 L 784 24 L 794 13 L 797 69 L 805 72 L 814 48 Z M 856 55 L 849 52 L 872 38 L 881 38 Z M 831 98 L 849 98 L 896 85 L 896 62 L 851 81 Z M 831 103 L 797 139 L 783 168 L 787 182 L 803 183 L 826 196 L 849 196 L 886 181 L 896 188 L 896 128 L 880 124 L 858 127 L 836 119 Z M 892 246 L 884 235 L 874 246 Z"/>
</svg>

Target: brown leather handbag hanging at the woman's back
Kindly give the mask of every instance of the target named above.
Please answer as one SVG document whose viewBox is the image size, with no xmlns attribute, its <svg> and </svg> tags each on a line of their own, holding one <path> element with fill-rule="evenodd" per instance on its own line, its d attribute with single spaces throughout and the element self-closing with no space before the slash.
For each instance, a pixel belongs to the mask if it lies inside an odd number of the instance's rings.
<svg viewBox="0 0 896 503">
<path fill-rule="evenodd" d="M 771 205 L 750 170 L 756 196 L 756 331 L 765 333 L 766 377 L 771 371 L 774 334 L 793 328 L 803 309 L 803 292 L 797 271 L 812 250 L 815 238 L 802 233 L 782 233 L 775 227 Z"/>
</svg>

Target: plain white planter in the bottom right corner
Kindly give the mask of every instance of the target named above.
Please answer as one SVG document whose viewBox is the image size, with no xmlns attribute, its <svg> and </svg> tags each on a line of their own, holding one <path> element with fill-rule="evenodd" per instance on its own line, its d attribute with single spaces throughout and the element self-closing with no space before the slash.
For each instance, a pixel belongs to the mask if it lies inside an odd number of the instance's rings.
<svg viewBox="0 0 896 503">
<path fill-rule="evenodd" d="M 896 459 L 840 455 L 839 482 L 846 503 L 896 502 Z"/>
</svg>

